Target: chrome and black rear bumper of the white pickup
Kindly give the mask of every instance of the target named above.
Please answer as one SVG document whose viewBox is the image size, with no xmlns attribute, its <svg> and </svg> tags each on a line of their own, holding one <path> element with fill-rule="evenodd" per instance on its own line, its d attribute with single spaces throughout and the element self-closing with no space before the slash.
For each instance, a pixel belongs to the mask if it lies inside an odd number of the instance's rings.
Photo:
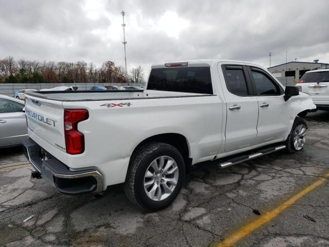
<svg viewBox="0 0 329 247">
<path fill-rule="evenodd" d="M 22 140 L 24 154 L 32 167 L 60 193 L 78 195 L 103 190 L 103 176 L 96 169 L 70 171 L 31 138 Z"/>
</svg>

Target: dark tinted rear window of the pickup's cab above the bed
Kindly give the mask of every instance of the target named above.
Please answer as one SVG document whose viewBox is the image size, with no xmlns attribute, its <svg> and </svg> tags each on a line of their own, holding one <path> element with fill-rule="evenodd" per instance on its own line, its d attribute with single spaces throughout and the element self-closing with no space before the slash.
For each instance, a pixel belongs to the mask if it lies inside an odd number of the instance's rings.
<svg viewBox="0 0 329 247">
<path fill-rule="evenodd" d="M 153 68 L 148 90 L 212 94 L 210 67 Z"/>
</svg>

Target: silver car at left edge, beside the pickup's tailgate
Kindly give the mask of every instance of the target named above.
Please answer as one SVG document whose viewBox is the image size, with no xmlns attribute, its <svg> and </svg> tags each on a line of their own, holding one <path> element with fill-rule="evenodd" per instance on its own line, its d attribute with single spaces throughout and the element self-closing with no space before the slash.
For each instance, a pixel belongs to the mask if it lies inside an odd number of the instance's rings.
<svg viewBox="0 0 329 247">
<path fill-rule="evenodd" d="M 0 95 L 0 148 L 22 145 L 27 137 L 24 101 Z"/>
</svg>

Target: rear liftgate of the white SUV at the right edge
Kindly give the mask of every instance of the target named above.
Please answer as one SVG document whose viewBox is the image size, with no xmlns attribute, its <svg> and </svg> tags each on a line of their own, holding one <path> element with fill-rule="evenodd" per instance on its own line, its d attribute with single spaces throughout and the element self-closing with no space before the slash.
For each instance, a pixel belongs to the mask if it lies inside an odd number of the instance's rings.
<svg viewBox="0 0 329 247">
<path fill-rule="evenodd" d="M 302 91 L 312 96 L 315 101 L 329 100 L 329 71 L 314 70 L 305 73 L 300 79 Z"/>
</svg>

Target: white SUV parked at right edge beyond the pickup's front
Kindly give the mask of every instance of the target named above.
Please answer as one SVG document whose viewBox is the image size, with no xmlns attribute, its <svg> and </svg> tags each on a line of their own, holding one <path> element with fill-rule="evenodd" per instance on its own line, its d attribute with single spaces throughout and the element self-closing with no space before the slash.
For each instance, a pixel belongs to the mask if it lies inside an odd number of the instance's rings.
<svg viewBox="0 0 329 247">
<path fill-rule="evenodd" d="M 318 110 L 329 110 L 329 66 L 307 71 L 296 86 L 312 97 Z M 303 112 L 300 116 L 306 114 Z"/>
</svg>

